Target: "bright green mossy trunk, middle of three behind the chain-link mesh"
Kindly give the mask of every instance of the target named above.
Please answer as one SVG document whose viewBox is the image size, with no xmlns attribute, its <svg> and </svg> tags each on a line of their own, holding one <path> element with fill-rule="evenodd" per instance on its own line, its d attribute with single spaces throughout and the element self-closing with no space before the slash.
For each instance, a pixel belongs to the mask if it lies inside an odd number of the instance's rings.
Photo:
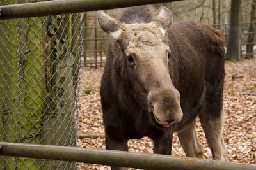
<svg viewBox="0 0 256 170">
<path fill-rule="evenodd" d="M 39 144 L 44 138 L 42 133 L 42 116 L 44 115 L 45 105 L 45 79 L 44 79 L 44 48 L 45 43 L 44 34 L 47 29 L 45 19 L 42 17 L 26 18 L 22 20 L 29 25 L 26 32 L 22 36 L 26 42 L 26 51 L 23 53 L 24 74 L 22 78 L 22 85 L 24 85 L 22 92 L 24 93 L 23 113 L 20 116 L 20 134 L 22 143 Z M 41 160 L 36 159 L 22 159 L 19 168 L 38 169 Z"/>
</svg>

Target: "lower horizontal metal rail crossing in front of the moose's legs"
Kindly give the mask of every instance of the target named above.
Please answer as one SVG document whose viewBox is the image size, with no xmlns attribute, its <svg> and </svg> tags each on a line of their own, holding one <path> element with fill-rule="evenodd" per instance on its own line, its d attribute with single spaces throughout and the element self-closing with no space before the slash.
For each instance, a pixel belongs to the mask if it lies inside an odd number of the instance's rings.
<svg viewBox="0 0 256 170">
<path fill-rule="evenodd" d="M 256 165 L 253 164 L 189 157 L 172 157 L 152 153 L 132 153 L 116 150 L 24 143 L 0 143 L 0 147 L 0 155 L 5 156 L 85 162 L 140 169 L 256 169 Z"/>
</svg>

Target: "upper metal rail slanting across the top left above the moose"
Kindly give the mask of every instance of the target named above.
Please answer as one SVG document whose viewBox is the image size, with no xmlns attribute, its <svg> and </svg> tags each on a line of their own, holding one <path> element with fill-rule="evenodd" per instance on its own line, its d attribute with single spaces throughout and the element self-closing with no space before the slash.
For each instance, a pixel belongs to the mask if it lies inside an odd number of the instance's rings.
<svg viewBox="0 0 256 170">
<path fill-rule="evenodd" d="M 38 3 L 0 6 L 0 19 L 39 17 L 64 13 L 109 10 L 144 4 L 165 3 L 182 0 L 56 0 Z"/>
</svg>

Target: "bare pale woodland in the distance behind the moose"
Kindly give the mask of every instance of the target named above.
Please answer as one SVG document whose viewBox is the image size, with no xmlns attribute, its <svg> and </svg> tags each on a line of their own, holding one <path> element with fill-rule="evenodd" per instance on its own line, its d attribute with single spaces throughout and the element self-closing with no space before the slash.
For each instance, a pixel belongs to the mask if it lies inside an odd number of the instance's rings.
<svg viewBox="0 0 256 170">
<path fill-rule="evenodd" d="M 255 45 L 255 0 L 187 0 L 172 3 L 154 4 L 156 8 L 160 6 L 168 7 L 173 13 L 173 22 L 182 22 L 185 20 L 195 20 L 207 25 L 211 25 L 221 30 L 225 44 L 228 44 L 228 33 L 230 31 L 230 11 L 233 2 L 233 8 L 239 15 L 239 49 L 232 48 L 232 52 L 239 53 L 239 56 L 230 57 L 229 60 L 238 60 L 240 57 L 253 57 L 253 48 Z M 254 9 L 254 10 L 253 10 Z M 106 10 L 106 13 L 114 18 L 119 18 L 124 8 L 115 10 Z M 237 15 L 234 16 L 237 18 Z M 238 21 L 238 20 L 237 20 Z M 237 34 L 237 33 L 235 33 Z M 234 38 L 235 36 L 231 36 Z M 108 46 L 108 34 L 99 29 L 97 24 L 96 11 L 83 14 L 83 57 L 84 64 L 87 66 L 102 66 L 106 48 Z M 234 41 L 234 39 L 232 40 Z M 250 43 L 248 43 L 248 41 Z M 250 55 L 246 55 L 246 47 L 250 47 Z M 232 54 L 234 55 L 234 54 Z M 237 54 L 238 55 L 238 54 Z M 234 58 L 234 59 L 232 59 Z"/>
</svg>

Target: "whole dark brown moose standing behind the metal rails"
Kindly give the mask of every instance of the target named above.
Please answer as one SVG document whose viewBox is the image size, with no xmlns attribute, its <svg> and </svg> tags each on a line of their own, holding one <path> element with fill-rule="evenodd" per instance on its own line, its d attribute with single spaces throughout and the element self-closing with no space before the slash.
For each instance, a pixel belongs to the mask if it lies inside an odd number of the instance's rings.
<svg viewBox="0 0 256 170">
<path fill-rule="evenodd" d="M 225 71 L 220 32 L 193 21 L 168 28 L 172 24 L 165 23 L 169 14 L 161 13 L 164 15 L 152 22 L 157 13 L 151 6 L 129 8 L 119 22 L 114 21 L 115 29 L 113 24 L 104 27 L 106 21 L 99 17 L 106 32 L 122 30 L 109 40 L 100 89 L 106 148 L 127 150 L 128 139 L 149 136 L 154 141 L 154 153 L 170 154 L 175 131 L 187 156 L 202 157 L 195 135 L 195 118 L 200 113 L 201 121 L 215 121 L 204 129 L 205 134 L 216 133 L 207 140 L 220 143 L 210 146 L 214 159 L 225 159 L 227 148 L 221 136 Z M 168 28 L 164 37 L 158 27 Z M 167 62 L 168 48 L 172 55 Z M 133 52 L 134 62 L 127 62 L 126 56 Z M 172 122 L 168 128 L 163 127 L 166 121 Z M 188 141 L 188 134 L 193 140 Z"/>
</svg>

